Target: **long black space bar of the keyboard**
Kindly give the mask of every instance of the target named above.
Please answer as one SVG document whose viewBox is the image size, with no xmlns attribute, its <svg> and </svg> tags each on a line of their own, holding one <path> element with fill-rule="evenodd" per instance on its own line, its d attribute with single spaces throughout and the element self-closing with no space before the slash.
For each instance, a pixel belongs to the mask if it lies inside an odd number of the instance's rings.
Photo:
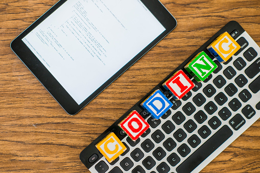
<svg viewBox="0 0 260 173">
<path fill-rule="evenodd" d="M 212 135 L 205 143 L 203 143 L 198 150 L 182 162 L 176 168 L 176 171 L 179 173 L 190 173 L 209 155 L 217 150 L 220 145 L 232 136 L 232 134 L 232 130 L 227 125 L 223 126 L 217 133 Z"/>
</svg>

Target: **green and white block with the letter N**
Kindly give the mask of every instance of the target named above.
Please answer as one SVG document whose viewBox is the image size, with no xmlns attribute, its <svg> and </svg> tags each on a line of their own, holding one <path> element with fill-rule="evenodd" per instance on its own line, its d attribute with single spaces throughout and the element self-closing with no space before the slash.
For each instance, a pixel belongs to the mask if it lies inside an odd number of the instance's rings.
<svg viewBox="0 0 260 173">
<path fill-rule="evenodd" d="M 190 61 L 184 68 L 197 82 L 204 81 L 216 68 L 217 64 L 202 51 Z"/>
</svg>

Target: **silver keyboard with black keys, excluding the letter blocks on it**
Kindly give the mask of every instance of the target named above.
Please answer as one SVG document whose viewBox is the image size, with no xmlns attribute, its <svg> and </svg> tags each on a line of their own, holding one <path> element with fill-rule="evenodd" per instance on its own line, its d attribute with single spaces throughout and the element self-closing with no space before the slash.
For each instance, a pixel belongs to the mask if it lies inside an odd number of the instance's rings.
<svg viewBox="0 0 260 173">
<path fill-rule="evenodd" d="M 207 47 L 225 32 L 241 48 L 228 61 L 220 63 Z M 214 60 L 217 67 L 203 82 L 197 82 L 184 66 L 202 51 Z M 92 173 L 199 172 L 260 117 L 259 54 L 259 46 L 240 24 L 228 22 L 90 143 L 80 154 L 82 163 Z M 185 72 L 195 84 L 180 100 L 174 99 L 163 86 L 178 70 Z M 158 90 L 173 106 L 160 118 L 154 119 L 141 105 Z M 119 127 L 132 111 L 138 112 L 150 125 L 135 141 Z M 109 163 L 97 146 L 111 132 L 126 149 Z"/>
</svg>

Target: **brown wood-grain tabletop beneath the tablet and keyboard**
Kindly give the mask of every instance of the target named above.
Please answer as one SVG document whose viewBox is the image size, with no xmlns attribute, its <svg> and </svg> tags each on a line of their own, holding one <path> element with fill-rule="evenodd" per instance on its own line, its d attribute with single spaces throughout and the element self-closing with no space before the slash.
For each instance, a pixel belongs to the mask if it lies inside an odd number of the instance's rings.
<svg viewBox="0 0 260 173">
<path fill-rule="evenodd" d="M 75 116 L 10 42 L 57 0 L 0 2 L 0 172 L 89 172 L 80 152 L 230 20 L 260 45 L 259 0 L 161 0 L 177 28 Z M 260 119 L 202 172 L 260 172 Z"/>
</svg>

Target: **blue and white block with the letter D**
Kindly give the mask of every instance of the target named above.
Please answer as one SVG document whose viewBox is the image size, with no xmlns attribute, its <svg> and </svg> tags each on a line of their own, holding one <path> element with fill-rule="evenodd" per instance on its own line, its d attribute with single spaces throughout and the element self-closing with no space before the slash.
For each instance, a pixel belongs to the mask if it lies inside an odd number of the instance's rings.
<svg viewBox="0 0 260 173">
<path fill-rule="evenodd" d="M 146 109 L 154 119 L 159 119 L 173 104 L 160 90 L 154 91 L 141 106 Z"/>
</svg>

